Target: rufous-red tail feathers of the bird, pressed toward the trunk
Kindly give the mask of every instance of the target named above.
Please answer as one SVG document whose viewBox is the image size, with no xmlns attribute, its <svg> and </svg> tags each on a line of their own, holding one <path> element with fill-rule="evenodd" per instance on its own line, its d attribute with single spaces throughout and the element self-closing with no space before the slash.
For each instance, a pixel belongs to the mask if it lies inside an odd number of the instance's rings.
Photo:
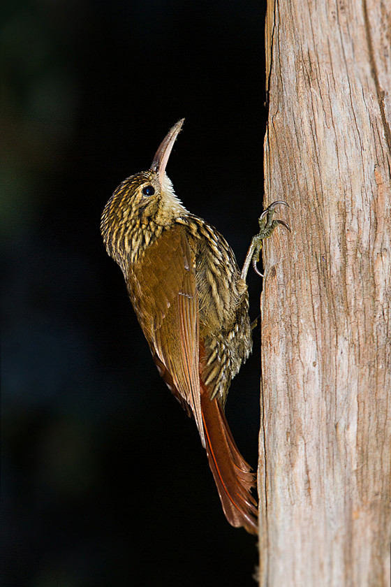
<svg viewBox="0 0 391 587">
<path fill-rule="evenodd" d="M 255 476 L 237 449 L 219 401 L 210 400 L 203 385 L 200 391 L 207 458 L 224 514 L 232 526 L 243 526 L 250 534 L 257 534 L 258 512 L 251 495 Z"/>
</svg>

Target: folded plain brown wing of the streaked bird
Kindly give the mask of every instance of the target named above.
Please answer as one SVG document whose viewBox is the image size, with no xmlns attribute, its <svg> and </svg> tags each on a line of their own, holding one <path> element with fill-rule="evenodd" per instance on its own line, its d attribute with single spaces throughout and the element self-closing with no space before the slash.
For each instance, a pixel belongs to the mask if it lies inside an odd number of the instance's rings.
<svg viewBox="0 0 391 587">
<path fill-rule="evenodd" d="M 172 393 L 191 407 L 202 444 L 198 292 L 195 262 L 183 226 L 161 235 L 133 268 L 140 283 L 133 305 L 152 354 L 170 373 Z M 140 293 L 141 292 L 141 293 Z M 165 377 L 165 380 L 167 376 Z"/>
</svg>

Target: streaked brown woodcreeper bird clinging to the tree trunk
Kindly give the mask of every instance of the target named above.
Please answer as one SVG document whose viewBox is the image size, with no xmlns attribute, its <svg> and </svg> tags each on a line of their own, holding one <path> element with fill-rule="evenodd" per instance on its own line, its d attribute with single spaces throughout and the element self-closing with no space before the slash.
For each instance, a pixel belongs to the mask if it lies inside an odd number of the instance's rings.
<svg viewBox="0 0 391 587">
<path fill-rule="evenodd" d="M 165 173 L 184 120 L 170 129 L 148 171 L 131 175 L 105 205 L 101 233 L 158 371 L 193 416 L 232 526 L 257 532 L 255 477 L 239 453 L 224 405 L 252 347 L 246 273 L 277 224 L 274 202 L 259 219 L 242 274 L 223 236 L 191 214 Z M 257 270 L 258 272 L 258 270 Z M 259 272 L 258 272 L 259 273 Z"/>
</svg>

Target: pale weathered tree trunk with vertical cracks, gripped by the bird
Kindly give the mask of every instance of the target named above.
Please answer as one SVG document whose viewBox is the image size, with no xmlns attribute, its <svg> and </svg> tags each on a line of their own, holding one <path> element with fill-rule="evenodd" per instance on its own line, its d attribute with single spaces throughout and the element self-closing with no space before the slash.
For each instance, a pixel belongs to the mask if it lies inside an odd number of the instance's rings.
<svg viewBox="0 0 391 587">
<path fill-rule="evenodd" d="M 260 585 L 390 587 L 391 3 L 270 2 Z"/>
</svg>

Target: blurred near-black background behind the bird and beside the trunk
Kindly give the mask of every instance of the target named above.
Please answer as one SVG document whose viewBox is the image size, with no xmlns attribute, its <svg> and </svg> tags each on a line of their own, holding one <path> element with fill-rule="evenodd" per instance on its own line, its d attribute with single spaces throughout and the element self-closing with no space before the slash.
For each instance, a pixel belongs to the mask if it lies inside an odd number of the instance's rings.
<svg viewBox="0 0 391 587">
<path fill-rule="evenodd" d="M 255 0 L 2 3 L 4 587 L 254 584 L 256 538 L 223 516 L 99 222 L 186 117 L 168 175 L 243 263 L 262 206 L 264 13 Z M 227 405 L 254 467 L 255 345 Z"/>
</svg>

